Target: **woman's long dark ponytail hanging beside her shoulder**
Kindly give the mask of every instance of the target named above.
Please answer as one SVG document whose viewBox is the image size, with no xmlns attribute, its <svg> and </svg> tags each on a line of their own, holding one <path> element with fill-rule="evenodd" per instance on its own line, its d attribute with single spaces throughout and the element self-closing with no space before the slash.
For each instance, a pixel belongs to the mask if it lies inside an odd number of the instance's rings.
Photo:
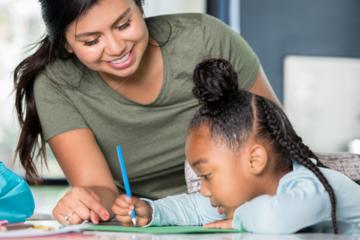
<svg viewBox="0 0 360 240">
<path fill-rule="evenodd" d="M 36 76 L 54 59 L 52 52 L 51 43 L 46 36 L 39 42 L 35 53 L 25 58 L 14 71 L 15 108 L 21 129 L 15 158 L 19 157 L 26 179 L 31 183 L 38 183 L 40 180 L 34 159 L 40 157 L 46 164 L 45 140 L 33 87 Z"/>
</svg>

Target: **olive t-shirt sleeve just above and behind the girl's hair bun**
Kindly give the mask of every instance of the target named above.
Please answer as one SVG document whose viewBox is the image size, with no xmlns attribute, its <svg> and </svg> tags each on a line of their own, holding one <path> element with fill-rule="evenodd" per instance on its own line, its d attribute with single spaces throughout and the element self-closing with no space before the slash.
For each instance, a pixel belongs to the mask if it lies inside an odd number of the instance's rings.
<svg viewBox="0 0 360 240">
<path fill-rule="evenodd" d="M 231 62 L 239 77 L 239 86 L 250 89 L 255 83 L 260 62 L 248 43 L 220 20 L 202 16 L 204 44 L 210 57 L 221 57 Z"/>
</svg>

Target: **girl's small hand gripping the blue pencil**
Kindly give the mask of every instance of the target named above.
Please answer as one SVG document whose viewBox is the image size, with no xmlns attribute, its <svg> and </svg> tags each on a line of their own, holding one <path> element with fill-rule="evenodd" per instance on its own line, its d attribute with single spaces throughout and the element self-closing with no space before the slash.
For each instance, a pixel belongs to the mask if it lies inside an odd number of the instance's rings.
<svg viewBox="0 0 360 240">
<path fill-rule="evenodd" d="M 134 209 L 137 226 L 145 226 L 151 221 L 152 217 L 152 208 L 147 202 L 136 197 L 130 199 L 125 194 L 120 195 L 115 200 L 111 209 L 122 226 L 133 226 L 131 211 Z"/>
</svg>

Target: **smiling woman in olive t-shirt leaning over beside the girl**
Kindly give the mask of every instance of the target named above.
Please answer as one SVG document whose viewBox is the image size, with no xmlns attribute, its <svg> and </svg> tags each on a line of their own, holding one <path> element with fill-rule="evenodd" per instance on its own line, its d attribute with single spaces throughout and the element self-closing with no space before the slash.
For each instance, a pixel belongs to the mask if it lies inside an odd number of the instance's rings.
<svg viewBox="0 0 360 240">
<path fill-rule="evenodd" d="M 36 179 L 37 139 L 43 155 L 49 143 L 72 186 L 53 211 L 61 223 L 110 218 L 121 183 L 116 144 L 135 195 L 185 191 L 185 129 L 199 107 L 191 76 L 202 59 L 228 59 L 240 87 L 277 101 L 249 46 L 214 18 L 144 19 L 140 0 L 40 4 L 47 35 L 14 76 L 17 153 Z"/>
</svg>

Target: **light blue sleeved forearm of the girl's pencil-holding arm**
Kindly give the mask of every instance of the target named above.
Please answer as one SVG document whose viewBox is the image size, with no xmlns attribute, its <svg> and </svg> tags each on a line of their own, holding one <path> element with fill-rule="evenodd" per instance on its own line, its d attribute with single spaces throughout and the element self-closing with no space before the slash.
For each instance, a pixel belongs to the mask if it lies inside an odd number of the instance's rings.
<svg viewBox="0 0 360 240">
<path fill-rule="evenodd" d="M 152 220 L 148 224 L 152 226 L 201 226 L 225 218 L 211 206 L 209 198 L 200 193 L 175 195 L 148 202 L 153 209 Z"/>
</svg>

